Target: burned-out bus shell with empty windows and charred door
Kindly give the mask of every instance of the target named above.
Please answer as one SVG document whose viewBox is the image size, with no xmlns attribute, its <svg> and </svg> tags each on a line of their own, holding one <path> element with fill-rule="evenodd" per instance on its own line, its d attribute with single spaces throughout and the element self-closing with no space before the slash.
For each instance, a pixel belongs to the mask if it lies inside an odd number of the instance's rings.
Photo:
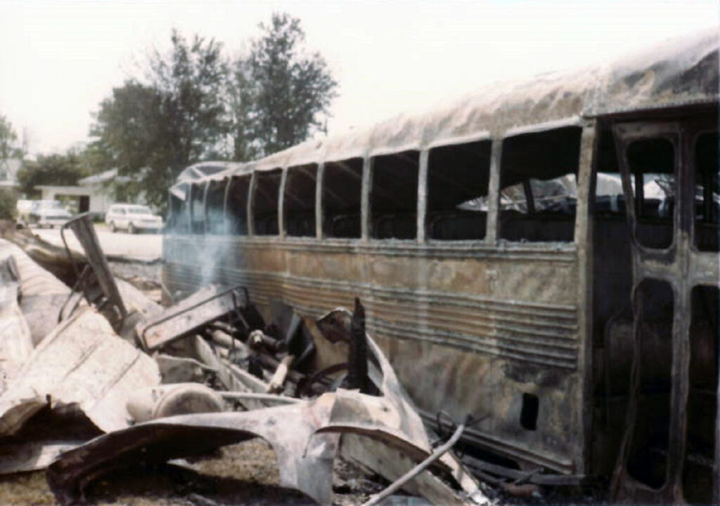
<svg viewBox="0 0 720 506">
<path fill-rule="evenodd" d="M 314 318 L 359 297 L 431 420 L 492 469 L 718 500 L 718 36 L 487 86 L 444 109 L 188 167 L 171 292 Z M 312 368 L 343 362 L 318 340 Z"/>
</svg>

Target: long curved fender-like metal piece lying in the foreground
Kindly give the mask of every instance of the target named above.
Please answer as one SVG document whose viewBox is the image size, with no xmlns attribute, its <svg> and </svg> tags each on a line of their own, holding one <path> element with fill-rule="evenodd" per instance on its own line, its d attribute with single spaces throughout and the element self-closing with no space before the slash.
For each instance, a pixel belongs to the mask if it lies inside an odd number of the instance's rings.
<svg viewBox="0 0 720 506">
<path fill-rule="evenodd" d="M 241 413 L 162 418 L 109 433 L 69 451 L 48 467 L 48 484 L 63 505 L 81 499 L 84 484 L 113 469 L 201 454 L 260 437 L 277 456 L 280 484 L 330 504 L 338 437 L 313 436 L 328 420 L 335 397 Z"/>
</svg>

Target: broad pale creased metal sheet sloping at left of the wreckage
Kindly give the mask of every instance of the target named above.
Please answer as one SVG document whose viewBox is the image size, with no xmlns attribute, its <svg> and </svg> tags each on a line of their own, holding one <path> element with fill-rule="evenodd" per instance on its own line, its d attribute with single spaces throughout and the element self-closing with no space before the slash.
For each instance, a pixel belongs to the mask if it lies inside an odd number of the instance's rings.
<svg viewBox="0 0 720 506">
<path fill-rule="evenodd" d="M 0 436 L 12 435 L 45 405 L 77 405 L 102 431 L 130 422 L 130 392 L 158 385 L 156 362 L 120 339 L 107 320 L 81 308 L 42 340 L 0 396 Z"/>
</svg>

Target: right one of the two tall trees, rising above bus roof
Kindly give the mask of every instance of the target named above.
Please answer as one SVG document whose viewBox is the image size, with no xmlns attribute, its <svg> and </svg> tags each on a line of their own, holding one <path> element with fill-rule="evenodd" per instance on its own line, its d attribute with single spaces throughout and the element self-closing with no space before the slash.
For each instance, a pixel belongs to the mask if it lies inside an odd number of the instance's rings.
<svg viewBox="0 0 720 506">
<path fill-rule="evenodd" d="M 233 157 L 269 155 L 322 131 L 338 83 L 319 52 L 303 49 L 300 19 L 273 14 L 233 68 Z"/>
</svg>

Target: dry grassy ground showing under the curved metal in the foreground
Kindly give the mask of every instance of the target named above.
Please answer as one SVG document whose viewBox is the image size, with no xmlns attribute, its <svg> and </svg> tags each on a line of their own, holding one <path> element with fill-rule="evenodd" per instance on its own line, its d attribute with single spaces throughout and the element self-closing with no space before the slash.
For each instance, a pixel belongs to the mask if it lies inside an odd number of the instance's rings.
<svg viewBox="0 0 720 506">
<path fill-rule="evenodd" d="M 338 461 L 333 488 L 336 504 L 349 506 L 361 504 L 382 484 Z M 280 487 L 274 451 L 260 439 L 226 446 L 192 464 L 112 474 L 89 487 L 87 500 L 98 506 L 315 505 L 304 494 Z M 59 503 L 45 482 L 45 471 L 35 471 L 0 477 L 0 504 Z"/>
</svg>

